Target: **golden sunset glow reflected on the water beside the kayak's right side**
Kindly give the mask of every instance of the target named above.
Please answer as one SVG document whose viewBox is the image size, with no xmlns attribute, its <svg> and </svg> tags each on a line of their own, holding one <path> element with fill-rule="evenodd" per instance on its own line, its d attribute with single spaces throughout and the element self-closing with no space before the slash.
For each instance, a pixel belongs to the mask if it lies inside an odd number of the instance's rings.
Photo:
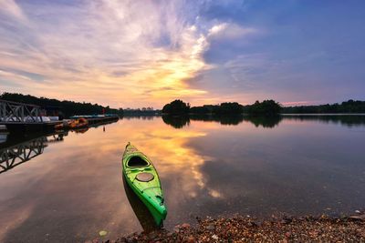
<svg viewBox="0 0 365 243">
<path fill-rule="evenodd" d="M 179 130 L 166 126 L 161 119 L 122 120 L 120 126 L 112 127 L 112 131 L 109 128 L 108 138 L 99 141 L 99 147 L 102 151 L 120 151 L 120 154 L 129 141 L 138 147 L 151 158 L 157 168 L 162 178 L 162 187 L 168 193 L 166 197 L 169 208 L 178 208 L 182 207 L 182 201 L 192 200 L 202 191 L 206 192 L 205 196 L 223 197 L 219 191 L 207 187 L 200 171 L 203 164 L 211 158 L 199 155 L 196 149 L 188 146 L 191 139 L 203 138 L 208 131 L 218 129 L 219 126 L 215 123 L 196 122 L 192 127 Z M 90 141 L 99 137 L 97 133 L 89 136 L 94 137 Z M 83 146 L 92 147 L 88 142 Z"/>
</svg>

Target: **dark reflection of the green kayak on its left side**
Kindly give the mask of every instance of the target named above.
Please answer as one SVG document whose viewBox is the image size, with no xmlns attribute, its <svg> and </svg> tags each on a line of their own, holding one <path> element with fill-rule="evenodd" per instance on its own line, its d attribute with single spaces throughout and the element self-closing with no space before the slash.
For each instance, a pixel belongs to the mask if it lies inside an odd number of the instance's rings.
<svg viewBox="0 0 365 243">
<path fill-rule="evenodd" d="M 154 231 L 160 227 L 156 225 L 154 218 L 151 215 L 150 210 L 143 204 L 141 199 L 137 197 L 134 191 L 128 186 L 126 178 L 123 177 L 123 186 L 126 192 L 130 207 L 133 209 L 134 214 L 140 221 L 141 227 L 145 232 Z"/>
</svg>

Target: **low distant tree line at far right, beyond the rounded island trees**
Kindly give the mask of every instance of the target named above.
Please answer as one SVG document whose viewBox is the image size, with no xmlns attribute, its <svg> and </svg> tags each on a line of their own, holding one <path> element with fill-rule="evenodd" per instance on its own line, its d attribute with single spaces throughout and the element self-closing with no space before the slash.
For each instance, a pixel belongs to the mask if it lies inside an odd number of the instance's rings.
<svg viewBox="0 0 365 243">
<path fill-rule="evenodd" d="M 283 108 L 283 113 L 305 114 L 305 113 L 365 113 L 365 101 L 352 100 L 332 105 L 320 106 L 289 106 Z"/>
</svg>

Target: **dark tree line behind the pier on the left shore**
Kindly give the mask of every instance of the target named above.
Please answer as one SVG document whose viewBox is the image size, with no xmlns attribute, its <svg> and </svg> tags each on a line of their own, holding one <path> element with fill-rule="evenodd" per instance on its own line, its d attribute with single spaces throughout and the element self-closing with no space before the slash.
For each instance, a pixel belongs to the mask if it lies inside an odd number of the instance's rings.
<svg viewBox="0 0 365 243">
<path fill-rule="evenodd" d="M 123 115 L 123 109 L 113 109 L 110 106 L 99 106 L 98 104 L 92 105 L 91 103 L 79 103 L 68 100 L 49 99 L 46 97 L 36 97 L 15 93 L 3 93 L 0 99 L 15 101 L 19 103 L 33 104 L 41 106 L 42 108 L 57 107 L 65 117 L 78 116 L 78 115 L 99 115 L 102 114 L 103 109 L 106 114 Z"/>
</svg>

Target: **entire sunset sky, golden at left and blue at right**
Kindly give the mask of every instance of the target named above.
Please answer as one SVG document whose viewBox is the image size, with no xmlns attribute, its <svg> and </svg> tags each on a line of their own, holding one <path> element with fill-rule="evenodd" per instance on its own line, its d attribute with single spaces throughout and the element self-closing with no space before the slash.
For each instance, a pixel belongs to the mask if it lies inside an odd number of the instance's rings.
<svg viewBox="0 0 365 243">
<path fill-rule="evenodd" d="M 363 0 L 0 0 L 0 93 L 153 106 L 365 99 Z"/>
</svg>

